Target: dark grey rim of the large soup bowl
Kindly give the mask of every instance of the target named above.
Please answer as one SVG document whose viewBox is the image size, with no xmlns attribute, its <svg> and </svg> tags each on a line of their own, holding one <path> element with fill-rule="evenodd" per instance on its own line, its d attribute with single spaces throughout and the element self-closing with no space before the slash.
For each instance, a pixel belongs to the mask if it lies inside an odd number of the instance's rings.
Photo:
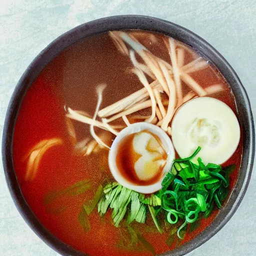
<svg viewBox="0 0 256 256">
<path fill-rule="evenodd" d="M 251 112 L 251 107 L 247 93 L 241 84 L 237 74 L 229 63 L 224 59 L 224 57 L 214 49 L 209 43 L 204 39 L 191 32 L 190 30 L 174 24 L 172 22 L 159 19 L 156 17 L 143 16 L 143 15 L 117 15 L 110 16 L 105 18 L 96 19 L 93 21 L 86 22 L 81 24 L 73 29 L 63 33 L 55 40 L 53 40 L 48 46 L 46 46 L 30 63 L 26 68 L 23 75 L 19 79 L 14 92 L 11 96 L 6 117 L 3 127 L 2 135 L 2 162 L 5 173 L 6 182 L 8 189 L 12 196 L 12 199 L 20 212 L 23 219 L 27 222 L 30 228 L 51 248 L 62 255 L 75 255 L 75 256 L 84 256 L 85 253 L 75 250 L 71 246 L 65 244 L 51 234 L 37 219 L 34 213 L 31 211 L 30 207 L 26 203 L 25 198 L 22 195 L 22 192 L 17 181 L 15 170 L 13 167 L 12 161 L 12 141 L 13 141 L 13 130 L 17 117 L 17 113 L 23 97 L 26 93 L 27 88 L 31 85 L 32 81 L 37 77 L 38 73 L 49 63 L 58 53 L 64 50 L 66 47 L 72 45 L 73 43 L 102 32 L 109 30 L 121 30 L 121 29 L 140 29 L 140 30 L 149 30 L 164 33 L 170 35 L 175 39 L 183 41 L 184 43 L 192 46 L 194 49 L 199 51 L 201 54 L 206 54 L 206 57 L 210 59 L 214 65 L 218 68 L 218 65 L 222 65 L 222 68 L 219 68 L 221 73 L 225 72 L 226 76 L 230 76 L 229 81 L 233 83 L 230 84 L 232 89 L 235 89 L 234 94 L 235 98 L 239 98 L 240 104 L 238 105 L 238 110 L 242 109 L 242 120 L 245 123 L 246 130 L 244 130 L 243 136 L 246 136 L 246 151 L 243 154 L 244 165 L 241 166 L 243 171 L 239 174 L 239 178 L 242 179 L 241 184 L 235 185 L 229 200 L 226 204 L 226 207 L 220 210 L 220 213 L 214 219 L 212 224 L 204 229 L 199 235 L 197 235 L 192 240 L 181 245 L 179 248 L 172 251 L 167 251 L 161 255 L 172 255 L 172 256 L 181 256 L 191 250 L 197 248 L 215 233 L 217 233 L 231 218 L 236 209 L 238 208 L 249 183 L 253 159 L 255 154 L 255 134 L 254 134 L 254 122 Z M 234 86 L 234 87 L 233 87 Z M 245 157 L 245 158 L 244 158 Z M 240 177 L 241 176 L 241 177 Z"/>
</svg>

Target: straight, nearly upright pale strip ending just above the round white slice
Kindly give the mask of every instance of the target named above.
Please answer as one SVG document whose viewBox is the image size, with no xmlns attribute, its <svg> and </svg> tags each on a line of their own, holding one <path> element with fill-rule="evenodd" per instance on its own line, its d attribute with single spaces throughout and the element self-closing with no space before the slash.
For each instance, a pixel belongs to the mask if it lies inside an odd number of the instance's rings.
<svg viewBox="0 0 256 256">
<path fill-rule="evenodd" d="M 177 104 L 180 104 L 180 102 L 182 101 L 182 90 L 181 90 L 179 70 L 177 65 L 175 42 L 172 38 L 169 38 L 169 47 L 170 47 L 169 55 L 170 55 L 170 60 L 172 64 L 173 77 L 176 84 L 176 91 L 177 91 L 177 98 L 178 98 Z"/>
</svg>

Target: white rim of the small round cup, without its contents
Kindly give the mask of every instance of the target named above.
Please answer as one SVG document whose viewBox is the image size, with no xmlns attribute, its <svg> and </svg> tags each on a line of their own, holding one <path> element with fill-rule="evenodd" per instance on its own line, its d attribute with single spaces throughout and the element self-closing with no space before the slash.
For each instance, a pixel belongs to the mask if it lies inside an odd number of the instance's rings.
<svg viewBox="0 0 256 256">
<path fill-rule="evenodd" d="M 120 173 L 120 171 L 118 170 L 117 165 L 116 165 L 116 154 L 117 154 L 118 144 L 120 143 L 120 141 L 125 136 L 135 133 L 135 132 L 142 131 L 142 130 L 148 130 L 148 131 L 152 132 L 153 134 L 155 134 L 156 136 L 158 136 L 162 142 L 162 146 L 163 146 L 165 152 L 167 153 L 166 164 L 162 170 L 162 177 L 160 179 L 158 179 L 155 183 L 150 184 L 150 185 L 136 185 L 136 184 L 132 183 L 131 181 L 129 181 L 125 177 L 123 177 L 123 175 Z M 148 194 L 148 193 L 153 193 L 153 192 L 161 189 L 162 179 L 164 177 L 164 174 L 170 170 L 174 156 L 175 156 L 175 152 L 174 152 L 172 142 L 164 130 L 162 130 L 160 127 L 158 127 L 154 124 L 151 124 L 151 123 L 137 122 L 137 123 L 130 124 L 126 128 L 122 129 L 118 133 L 118 135 L 115 137 L 115 139 L 111 145 L 110 151 L 109 151 L 108 165 L 109 165 L 110 171 L 111 171 L 114 179 L 118 183 L 120 183 L 121 185 L 123 185 L 129 189 L 132 189 L 134 191 Z"/>
</svg>

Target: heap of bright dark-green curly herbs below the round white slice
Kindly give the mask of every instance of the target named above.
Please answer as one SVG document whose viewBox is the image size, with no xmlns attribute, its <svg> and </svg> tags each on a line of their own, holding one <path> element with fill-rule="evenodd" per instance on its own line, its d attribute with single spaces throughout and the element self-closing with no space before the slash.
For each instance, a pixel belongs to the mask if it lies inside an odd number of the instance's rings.
<svg viewBox="0 0 256 256">
<path fill-rule="evenodd" d="M 179 238 L 183 237 L 181 232 L 187 223 L 197 222 L 199 213 L 205 212 L 205 216 L 210 214 L 213 201 L 221 207 L 221 202 L 228 192 L 227 177 L 231 168 L 224 171 L 219 164 L 205 165 L 200 157 L 197 159 L 198 165 L 193 163 L 191 160 L 199 150 L 198 147 L 191 156 L 175 159 L 171 171 L 165 176 L 166 182 L 162 183 L 162 189 L 157 192 L 161 198 L 162 209 L 167 211 L 169 223 L 175 224 L 178 219 L 185 219 L 177 231 Z M 176 177 L 173 177 L 173 174 L 176 174 Z"/>
</svg>

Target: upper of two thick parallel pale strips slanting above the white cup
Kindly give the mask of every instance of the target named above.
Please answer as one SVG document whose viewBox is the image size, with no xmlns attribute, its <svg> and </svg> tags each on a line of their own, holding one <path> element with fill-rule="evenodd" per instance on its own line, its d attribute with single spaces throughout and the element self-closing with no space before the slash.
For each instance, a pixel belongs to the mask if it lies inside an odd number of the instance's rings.
<svg viewBox="0 0 256 256">
<path fill-rule="evenodd" d="M 157 80 L 155 80 L 150 83 L 150 86 L 152 88 L 158 87 L 159 82 Z M 137 103 L 137 101 L 139 101 L 143 98 L 147 98 L 148 96 L 149 95 L 148 95 L 147 89 L 145 87 L 143 87 L 142 89 L 133 92 L 132 94 L 116 101 L 115 103 L 100 109 L 98 111 L 98 116 L 99 117 L 107 117 L 109 115 L 118 113 L 119 111 L 122 111 L 125 107 L 127 107 L 131 104 Z M 109 114 L 109 113 L 111 113 L 111 114 Z"/>
</svg>

